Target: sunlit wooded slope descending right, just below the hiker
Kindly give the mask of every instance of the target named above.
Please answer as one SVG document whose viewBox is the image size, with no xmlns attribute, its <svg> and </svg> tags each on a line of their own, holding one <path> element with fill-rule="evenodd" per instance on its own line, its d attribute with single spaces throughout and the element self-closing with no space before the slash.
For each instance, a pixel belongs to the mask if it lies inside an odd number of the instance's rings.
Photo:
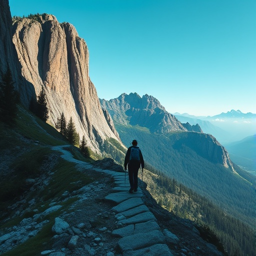
<svg viewBox="0 0 256 256">
<path fill-rule="evenodd" d="M 219 250 L 223 245 L 228 255 L 253 255 L 256 236 L 252 227 L 229 215 L 206 197 L 178 183 L 176 179 L 152 166 L 147 166 L 147 169 L 143 171 L 143 181 L 162 207 L 177 216 L 193 220 L 198 224 L 199 231 L 200 227 L 206 226 L 216 234 L 216 240 L 219 238 Z"/>
</svg>

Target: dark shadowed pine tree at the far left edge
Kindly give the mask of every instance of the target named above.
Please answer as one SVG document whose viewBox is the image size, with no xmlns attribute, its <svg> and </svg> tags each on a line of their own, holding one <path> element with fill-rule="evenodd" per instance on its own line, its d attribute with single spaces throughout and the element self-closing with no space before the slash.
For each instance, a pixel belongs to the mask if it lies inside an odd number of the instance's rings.
<svg viewBox="0 0 256 256">
<path fill-rule="evenodd" d="M 0 82 L 0 120 L 8 124 L 14 123 L 17 112 L 18 93 L 9 67 Z"/>
</svg>

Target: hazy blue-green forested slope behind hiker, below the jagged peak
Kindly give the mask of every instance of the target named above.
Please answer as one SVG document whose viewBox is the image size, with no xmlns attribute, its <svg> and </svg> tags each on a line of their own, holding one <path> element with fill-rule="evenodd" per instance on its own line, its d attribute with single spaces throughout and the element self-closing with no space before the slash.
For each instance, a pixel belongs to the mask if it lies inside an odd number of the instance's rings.
<svg viewBox="0 0 256 256">
<path fill-rule="evenodd" d="M 163 136 L 138 126 L 116 124 L 115 127 L 126 146 L 130 145 L 132 139 L 137 139 L 144 159 L 150 165 L 209 198 L 231 215 L 255 226 L 256 181 L 253 176 L 238 166 L 237 175 L 199 155 L 193 149 L 193 144 L 189 144 L 192 142 L 184 139 L 185 132 Z M 198 133 L 200 135 L 203 134 Z"/>
</svg>

